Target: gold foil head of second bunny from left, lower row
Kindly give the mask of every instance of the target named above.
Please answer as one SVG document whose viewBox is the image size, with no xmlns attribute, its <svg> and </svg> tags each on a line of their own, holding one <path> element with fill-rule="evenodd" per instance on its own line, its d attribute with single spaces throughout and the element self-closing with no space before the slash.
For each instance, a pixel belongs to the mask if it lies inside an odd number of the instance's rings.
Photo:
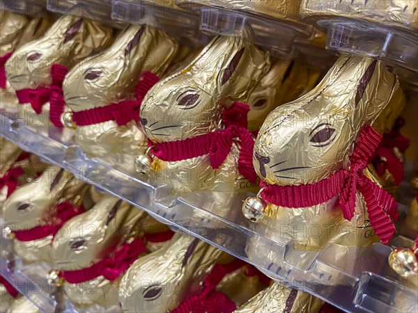
<svg viewBox="0 0 418 313">
<path fill-rule="evenodd" d="M 110 195 L 68 220 L 52 243 L 54 261 L 64 271 L 88 268 L 107 257 L 127 237 L 137 236 L 144 212 Z"/>
</svg>

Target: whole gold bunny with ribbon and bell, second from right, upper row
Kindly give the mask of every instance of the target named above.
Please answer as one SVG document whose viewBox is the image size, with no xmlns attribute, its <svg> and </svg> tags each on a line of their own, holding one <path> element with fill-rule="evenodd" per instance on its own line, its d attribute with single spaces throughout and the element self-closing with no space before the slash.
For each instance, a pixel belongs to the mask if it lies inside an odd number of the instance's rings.
<svg viewBox="0 0 418 313">
<path fill-rule="evenodd" d="M 233 192 L 242 175 L 256 182 L 247 158 L 254 143 L 246 129 L 249 109 L 237 102 L 247 101 L 269 67 L 269 54 L 249 42 L 218 37 L 146 94 L 141 125 L 174 193 Z M 141 172 L 151 166 L 147 158 L 137 159 Z"/>
</svg>

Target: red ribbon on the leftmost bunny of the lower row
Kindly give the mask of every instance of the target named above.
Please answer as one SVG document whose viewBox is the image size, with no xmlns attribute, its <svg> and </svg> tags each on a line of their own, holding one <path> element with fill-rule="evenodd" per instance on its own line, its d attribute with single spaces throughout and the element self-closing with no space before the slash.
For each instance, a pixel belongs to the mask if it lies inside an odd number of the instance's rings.
<svg viewBox="0 0 418 313">
<path fill-rule="evenodd" d="M 30 230 L 17 230 L 13 232 L 19 241 L 33 241 L 55 234 L 71 218 L 84 213 L 83 207 L 74 207 L 70 202 L 62 202 L 56 206 L 56 220 L 59 223 L 33 227 Z"/>
</svg>

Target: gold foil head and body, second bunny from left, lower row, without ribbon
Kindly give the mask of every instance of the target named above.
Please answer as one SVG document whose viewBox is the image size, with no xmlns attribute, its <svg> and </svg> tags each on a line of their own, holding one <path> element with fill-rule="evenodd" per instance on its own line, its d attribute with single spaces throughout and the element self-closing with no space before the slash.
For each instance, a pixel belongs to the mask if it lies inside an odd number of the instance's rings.
<svg viewBox="0 0 418 313">
<path fill-rule="evenodd" d="M 68 220 L 52 241 L 54 262 L 65 272 L 82 271 L 108 257 L 124 241 L 138 237 L 146 214 L 126 202 L 104 195 L 84 214 Z M 118 305 L 118 282 L 100 275 L 81 283 L 65 282 L 67 296 L 77 307 Z"/>
</svg>

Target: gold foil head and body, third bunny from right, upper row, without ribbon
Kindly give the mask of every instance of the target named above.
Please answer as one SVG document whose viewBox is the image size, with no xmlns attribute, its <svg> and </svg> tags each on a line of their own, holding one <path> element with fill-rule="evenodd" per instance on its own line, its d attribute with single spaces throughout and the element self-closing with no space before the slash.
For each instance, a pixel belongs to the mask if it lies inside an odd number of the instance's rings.
<svg viewBox="0 0 418 313">
<path fill-rule="evenodd" d="M 155 27 L 129 26 L 102 54 L 83 61 L 82 72 L 75 67 L 67 74 L 63 82 L 65 102 L 72 112 L 82 115 L 86 110 L 134 100 L 141 74 L 150 71 L 162 76 L 177 51 L 178 42 Z M 122 104 L 119 110 L 129 114 Z M 116 120 L 98 122 L 94 127 L 77 125 L 75 141 L 87 154 L 108 156 L 112 163 L 124 165 L 133 164 L 134 155 L 143 153 L 146 146 L 145 136 L 133 119 L 124 125 Z"/>
</svg>

